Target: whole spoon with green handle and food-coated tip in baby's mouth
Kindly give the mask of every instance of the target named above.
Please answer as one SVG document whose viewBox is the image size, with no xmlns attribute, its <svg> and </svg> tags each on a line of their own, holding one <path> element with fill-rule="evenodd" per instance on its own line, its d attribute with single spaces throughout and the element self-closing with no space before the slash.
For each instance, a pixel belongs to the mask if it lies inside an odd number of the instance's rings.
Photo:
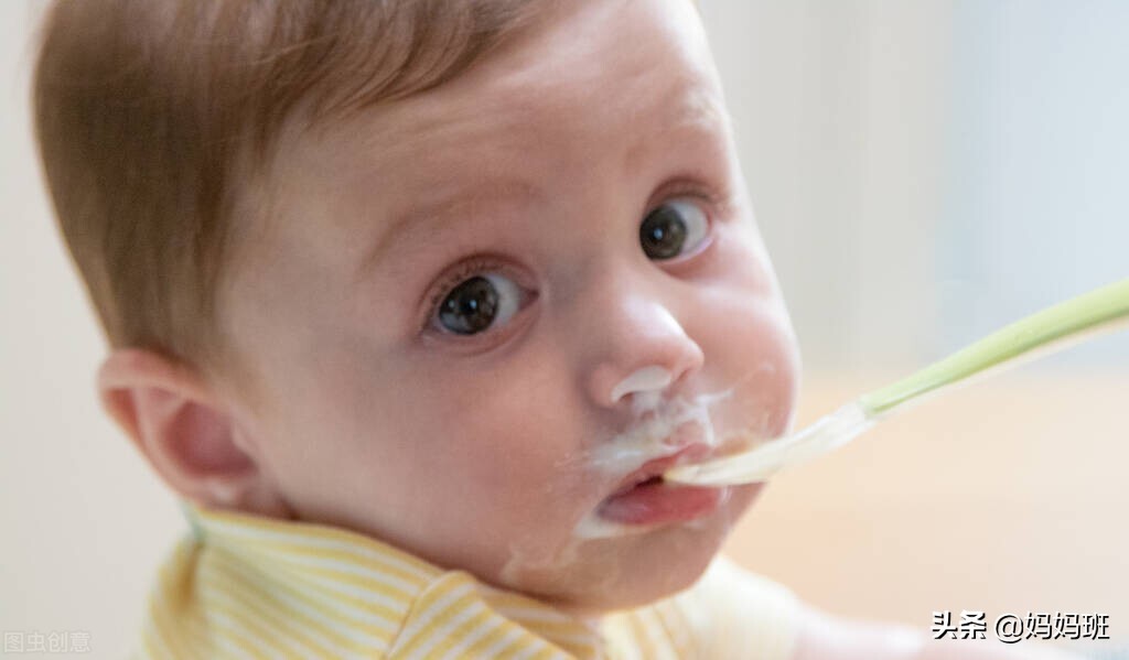
<svg viewBox="0 0 1129 660">
<path fill-rule="evenodd" d="M 842 447 L 878 421 L 910 407 L 911 402 L 920 403 L 925 395 L 936 395 L 973 376 L 997 373 L 1005 367 L 1124 327 L 1129 327 L 1129 279 L 1017 320 L 907 378 L 860 396 L 797 433 L 739 454 L 679 466 L 663 476 L 698 485 L 761 482 L 784 467 Z"/>
</svg>

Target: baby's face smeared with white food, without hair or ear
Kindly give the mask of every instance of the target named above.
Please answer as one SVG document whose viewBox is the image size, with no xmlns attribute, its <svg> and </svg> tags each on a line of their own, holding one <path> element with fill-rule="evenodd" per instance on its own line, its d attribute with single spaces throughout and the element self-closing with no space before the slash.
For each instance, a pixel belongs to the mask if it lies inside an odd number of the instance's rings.
<svg viewBox="0 0 1129 660">
<path fill-rule="evenodd" d="M 784 432 L 797 355 L 691 3 L 545 7 L 285 138 L 221 305 L 298 517 L 598 610 L 703 570 L 756 486 L 637 484 Z"/>
</svg>

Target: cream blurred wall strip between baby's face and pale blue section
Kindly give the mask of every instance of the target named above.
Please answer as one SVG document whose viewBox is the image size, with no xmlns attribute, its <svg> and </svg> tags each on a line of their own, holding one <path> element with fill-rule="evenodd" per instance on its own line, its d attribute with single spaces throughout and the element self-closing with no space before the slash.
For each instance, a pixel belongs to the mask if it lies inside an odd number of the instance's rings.
<svg viewBox="0 0 1129 660">
<path fill-rule="evenodd" d="M 951 7 L 702 9 L 808 367 L 914 363 L 935 342 Z"/>
</svg>

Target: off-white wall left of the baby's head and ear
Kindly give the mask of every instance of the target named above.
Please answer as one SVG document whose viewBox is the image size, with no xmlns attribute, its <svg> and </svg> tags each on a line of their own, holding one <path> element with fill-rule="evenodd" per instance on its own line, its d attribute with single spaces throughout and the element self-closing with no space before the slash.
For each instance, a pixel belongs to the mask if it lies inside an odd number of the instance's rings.
<svg viewBox="0 0 1129 660">
<path fill-rule="evenodd" d="M 85 632 L 91 657 L 124 658 L 182 523 L 94 397 L 104 344 L 29 132 L 41 5 L 0 2 L 0 636 Z"/>
</svg>

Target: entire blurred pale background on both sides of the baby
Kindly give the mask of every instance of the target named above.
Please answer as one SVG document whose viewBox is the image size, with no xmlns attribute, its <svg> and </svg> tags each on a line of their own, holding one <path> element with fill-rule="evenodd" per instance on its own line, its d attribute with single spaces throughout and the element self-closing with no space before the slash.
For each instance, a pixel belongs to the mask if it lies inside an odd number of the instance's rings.
<svg viewBox="0 0 1129 660">
<path fill-rule="evenodd" d="M 798 423 L 1129 276 L 1129 2 L 700 5 L 804 353 Z M 121 657 L 183 522 L 95 401 L 104 344 L 30 139 L 42 7 L 0 3 L 0 631 Z M 1127 403 L 1129 333 L 973 385 L 781 476 L 728 552 L 846 616 L 1106 614 L 1112 657 Z"/>
</svg>

